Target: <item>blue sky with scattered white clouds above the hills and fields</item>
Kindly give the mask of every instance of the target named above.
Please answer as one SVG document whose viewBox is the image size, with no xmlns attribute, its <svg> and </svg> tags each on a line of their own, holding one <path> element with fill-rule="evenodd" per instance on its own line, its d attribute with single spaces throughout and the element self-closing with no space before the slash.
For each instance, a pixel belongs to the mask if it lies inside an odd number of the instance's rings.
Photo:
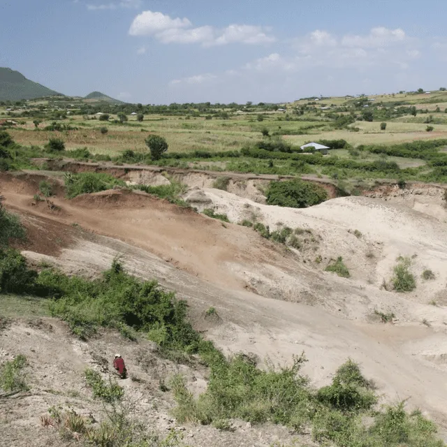
<svg viewBox="0 0 447 447">
<path fill-rule="evenodd" d="M 447 87 L 445 0 L 0 0 L 0 66 L 143 104 Z"/>
</svg>

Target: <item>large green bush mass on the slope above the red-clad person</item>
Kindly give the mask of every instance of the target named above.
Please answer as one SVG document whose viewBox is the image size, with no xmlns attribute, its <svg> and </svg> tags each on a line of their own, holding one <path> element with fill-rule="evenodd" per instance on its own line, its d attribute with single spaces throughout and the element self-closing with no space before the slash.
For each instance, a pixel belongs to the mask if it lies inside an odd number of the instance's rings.
<svg viewBox="0 0 447 447">
<path fill-rule="evenodd" d="M 118 261 L 102 279 L 87 281 L 43 270 L 38 284 L 56 298 L 52 313 L 64 318 L 80 337 L 88 337 L 97 326 L 127 325 L 157 335 L 156 342 L 165 349 L 198 349 L 200 337 L 186 321 L 186 302 L 161 290 L 156 281 L 126 274 Z"/>
</svg>

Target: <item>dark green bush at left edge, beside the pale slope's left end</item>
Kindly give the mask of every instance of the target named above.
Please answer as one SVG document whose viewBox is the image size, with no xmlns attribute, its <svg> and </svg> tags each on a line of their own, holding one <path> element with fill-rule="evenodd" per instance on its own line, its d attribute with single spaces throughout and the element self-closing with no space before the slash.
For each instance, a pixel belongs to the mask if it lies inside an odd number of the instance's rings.
<svg viewBox="0 0 447 447">
<path fill-rule="evenodd" d="M 29 270 L 27 261 L 14 249 L 0 249 L 0 292 L 33 293 L 37 273 Z"/>
</svg>

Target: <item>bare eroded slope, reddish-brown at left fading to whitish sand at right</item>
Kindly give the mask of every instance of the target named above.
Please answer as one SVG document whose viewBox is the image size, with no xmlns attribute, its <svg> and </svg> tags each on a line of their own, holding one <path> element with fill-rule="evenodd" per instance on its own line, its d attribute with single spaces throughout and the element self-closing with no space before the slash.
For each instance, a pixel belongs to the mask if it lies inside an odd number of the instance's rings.
<svg viewBox="0 0 447 447">
<path fill-rule="evenodd" d="M 388 399 L 409 397 L 412 406 L 447 423 L 447 312 L 427 305 L 432 295 L 444 293 L 446 283 L 445 229 L 436 219 L 367 198 L 289 210 L 206 191 L 217 209 L 234 221 L 248 210 L 272 226 L 281 221 L 312 228 L 320 237 L 316 250 L 295 253 L 263 240 L 250 228 L 223 226 L 145 195 L 111 191 L 69 202 L 55 198 L 61 210 L 50 212 L 45 204 L 30 205 L 36 189 L 29 179 L 0 180 L 6 203 L 22 214 L 35 235 L 52 228 L 53 237 L 60 238 L 59 250 L 36 246 L 27 253 L 30 258 L 41 258 L 37 251 L 70 272 L 91 274 L 124 254 L 130 272 L 157 277 L 189 300 L 196 327 L 226 351 L 251 351 L 274 362 L 290 362 L 304 350 L 310 360 L 306 371 L 318 384 L 328 382 L 351 356 Z M 81 228 L 71 226 L 73 222 Z M 350 229 L 363 236 L 356 237 Z M 373 261 L 365 260 L 367 250 L 374 251 Z M 323 272 L 313 262 L 316 254 L 324 262 L 344 256 L 353 277 Z M 415 272 L 432 268 L 438 279 L 430 284 L 419 280 L 411 295 L 380 290 L 382 276 L 390 275 L 399 254 L 417 254 Z M 203 312 L 210 306 L 217 308 L 219 324 L 204 321 Z M 374 309 L 395 312 L 397 323 L 374 321 Z M 421 324 L 423 318 L 430 328 Z"/>
</svg>

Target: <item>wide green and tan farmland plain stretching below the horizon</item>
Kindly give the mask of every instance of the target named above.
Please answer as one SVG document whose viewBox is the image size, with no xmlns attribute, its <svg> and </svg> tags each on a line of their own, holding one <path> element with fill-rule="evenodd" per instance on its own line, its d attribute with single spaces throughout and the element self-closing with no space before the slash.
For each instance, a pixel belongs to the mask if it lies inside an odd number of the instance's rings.
<svg viewBox="0 0 447 447">
<path fill-rule="evenodd" d="M 18 145 L 31 147 L 33 156 L 339 181 L 447 182 L 446 91 L 314 99 L 283 105 L 155 106 L 50 97 L 0 103 L 0 118 L 17 123 L 7 131 Z M 110 116 L 101 120 L 99 112 Z M 154 134 L 168 142 L 159 160 L 151 159 L 145 144 Z M 50 138 L 64 141 L 63 154 L 48 154 L 44 147 Z M 300 151 L 306 142 L 321 140 L 332 149 L 328 155 Z M 13 156 L 16 165 L 19 155 Z"/>
</svg>

